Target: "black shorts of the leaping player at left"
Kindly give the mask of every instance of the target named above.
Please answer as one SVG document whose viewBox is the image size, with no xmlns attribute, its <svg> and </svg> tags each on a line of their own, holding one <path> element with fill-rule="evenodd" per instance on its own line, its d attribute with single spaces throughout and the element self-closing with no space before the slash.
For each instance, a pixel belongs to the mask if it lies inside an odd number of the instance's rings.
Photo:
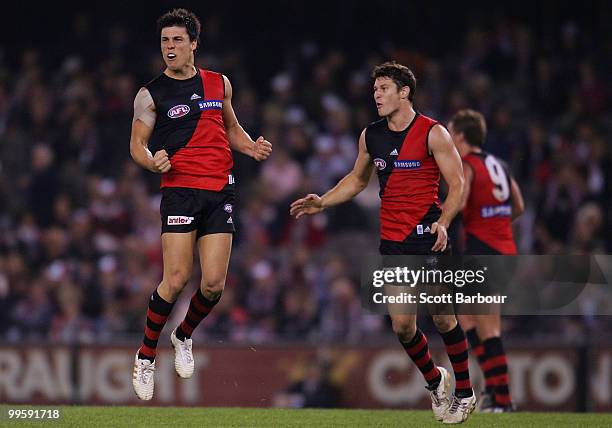
<svg viewBox="0 0 612 428">
<path fill-rule="evenodd" d="M 196 237 L 212 233 L 234 233 L 234 185 L 221 191 L 164 187 L 160 213 L 162 234 L 197 230 Z"/>
</svg>

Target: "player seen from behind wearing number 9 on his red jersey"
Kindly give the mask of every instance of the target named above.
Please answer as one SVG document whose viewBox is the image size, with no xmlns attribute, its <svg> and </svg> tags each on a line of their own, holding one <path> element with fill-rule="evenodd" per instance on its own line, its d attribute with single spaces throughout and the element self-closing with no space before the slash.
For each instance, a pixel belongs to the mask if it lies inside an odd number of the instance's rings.
<svg viewBox="0 0 612 428">
<path fill-rule="evenodd" d="M 453 116 L 448 129 L 463 159 L 465 186 L 461 207 L 466 254 L 516 254 L 512 220 L 523 213 L 523 197 L 508 167 L 482 150 L 487 134 L 483 115 L 461 110 Z M 480 411 L 500 413 L 513 410 L 513 406 L 499 308 L 494 308 L 494 312 L 459 315 L 459 321 L 485 376 Z"/>
</svg>

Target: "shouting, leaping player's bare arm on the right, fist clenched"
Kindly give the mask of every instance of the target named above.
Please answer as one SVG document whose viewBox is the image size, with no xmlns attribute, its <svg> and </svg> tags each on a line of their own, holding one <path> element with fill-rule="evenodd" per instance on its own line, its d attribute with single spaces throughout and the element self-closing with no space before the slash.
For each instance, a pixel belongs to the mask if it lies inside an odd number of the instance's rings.
<svg viewBox="0 0 612 428">
<path fill-rule="evenodd" d="M 247 132 L 240 126 L 236 113 L 232 107 L 232 84 L 229 79 L 223 76 L 223 83 L 225 85 L 225 99 L 223 100 L 223 123 L 225 124 L 225 131 L 227 132 L 227 138 L 230 142 L 230 147 L 240 153 L 252 157 L 257 161 L 262 161 L 270 156 L 272 153 L 272 144 L 267 141 L 264 137 L 259 137 L 257 140 L 253 139 L 247 134 Z"/>
</svg>

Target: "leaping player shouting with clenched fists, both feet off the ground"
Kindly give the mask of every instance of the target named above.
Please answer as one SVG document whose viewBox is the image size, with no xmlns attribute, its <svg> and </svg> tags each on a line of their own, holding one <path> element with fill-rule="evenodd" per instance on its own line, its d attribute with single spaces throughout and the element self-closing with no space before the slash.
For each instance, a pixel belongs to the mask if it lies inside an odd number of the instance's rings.
<svg viewBox="0 0 612 428">
<path fill-rule="evenodd" d="M 130 140 L 132 158 L 161 174 L 162 189 L 163 278 L 149 300 L 132 378 L 143 400 L 153 397 L 157 341 L 191 277 L 195 245 L 202 279 L 185 319 L 170 335 L 180 377 L 193 374 L 191 334 L 221 298 L 235 230 L 231 149 L 258 161 L 272 151 L 268 141 L 253 141 L 238 123 L 227 77 L 195 67 L 198 18 L 175 9 L 157 26 L 166 69 L 136 95 Z"/>
</svg>

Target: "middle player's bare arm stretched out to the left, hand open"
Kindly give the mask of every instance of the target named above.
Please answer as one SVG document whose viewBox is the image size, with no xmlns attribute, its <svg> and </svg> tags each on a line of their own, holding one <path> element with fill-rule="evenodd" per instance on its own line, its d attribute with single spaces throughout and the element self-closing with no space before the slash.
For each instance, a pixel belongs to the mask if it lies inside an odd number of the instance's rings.
<svg viewBox="0 0 612 428">
<path fill-rule="evenodd" d="M 316 214 L 326 208 L 353 199 L 367 187 L 373 171 L 374 165 L 372 163 L 372 157 L 366 149 L 365 130 L 363 130 L 359 137 L 359 154 L 357 155 L 357 160 L 355 161 L 355 166 L 353 166 L 352 171 L 344 176 L 334 188 L 323 196 L 311 193 L 293 202 L 290 210 L 291 215 L 295 216 L 297 219 L 303 215 Z"/>
</svg>

